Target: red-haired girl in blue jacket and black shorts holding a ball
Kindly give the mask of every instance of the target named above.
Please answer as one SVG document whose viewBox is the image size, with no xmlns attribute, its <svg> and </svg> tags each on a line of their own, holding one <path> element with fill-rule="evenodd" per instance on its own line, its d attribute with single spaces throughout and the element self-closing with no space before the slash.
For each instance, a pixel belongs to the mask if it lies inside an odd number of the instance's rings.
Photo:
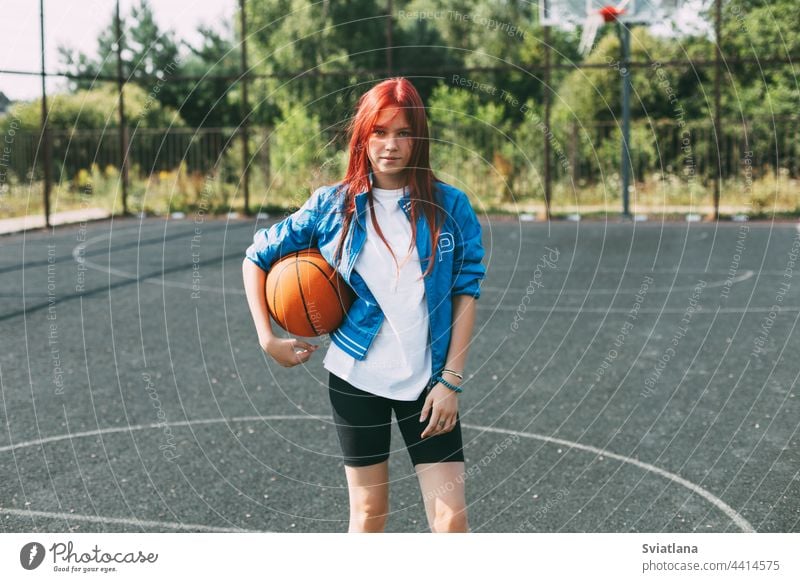
<svg viewBox="0 0 800 582">
<path fill-rule="evenodd" d="M 331 197 L 336 202 L 331 206 L 342 210 L 337 213 L 326 208 L 317 216 L 326 215 L 324 220 L 328 225 L 330 217 L 335 216 L 333 220 L 341 220 L 340 232 L 351 232 L 356 226 L 351 222 L 357 220 L 355 194 L 366 192 L 366 240 L 352 266 L 352 276 L 366 284 L 370 299 L 377 301 L 375 309 L 383 313 L 384 319 L 368 342 L 366 355 L 354 357 L 350 340 L 333 332 L 334 341 L 323 360 L 329 373 L 328 393 L 348 483 L 349 531 L 379 532 L 386 524 L 394 411 L 419 479 L 431 530 L 466 532 L 458 401 L 479 292 L 475 288 L 467 291 L 463 286 L 460 292 L 452 291 L 456 281 L 463 281 L 458 279 L 463 275 L 452 262 L 441 263 L 441 258 L 437 261 L 437 254 L 448 258 L 446 253 L 453 250 L 452 241 L 459 234 L 448 233 L 442 226 L 442 215 L 453 206 L 452 203 L 448 206 L 441 197 L 457 194 L 466 200 L 466 196 L 434 177 L 424 105 L 407 79 L 383 81 L 362 95 L 350 133 L 347 174 L 332 190 L 336 194 Z M 408 208 L 413 207 L 413 211 L 404 211 L 401 200 L 404 196 L 410 198 Z M 479 267 L 475 273 L 480 278 L 482 266 L 478 263 L 483 255 L 480 227 L 468 202 L 459 208 L 467 213 L 466 218 L 462 216 L 463 224 L 455 225 L 452 230 L 470 229 L 469 242 L 474 246 L 472 268 Z M 305 212 L 302 216 L 308 222 L 308 213 L 313 210 L 319 209 L 306 205 L 305 210 L 301 208 L 298 212 Z M 424 248 L 433 252 L 425 272 L 415 220 L 423 214 L 428 225 L 438 225 L 426 229 L 431 240 L 425 242 Z M 319 226 L 317 217 L 314 222 L 315 233 L 325 229 Z M 296 218 L 295 224 L 300 223 Z M 269 321 L 264 297 L 265 270 L 269 265 L 260 259 L 259 249 L 274 251 L 270 245 L 274 247 L 280 241 L 276 241 L 274 233 L 272 239 L 268 238 L 270 235 L 264 234 L 264 230 L 256 234 L 247 253 L 251 260 L 245 259 L 243 265 L 244 285 L 260 344 L 282 366 L 304 364 L 319 346 L 295 338 L 278 338 Z M 286 237 L 291 238 L 291 234 Z M 341 264 L 344 236 L 338 240 L 338 260 L 331 264 Z M 319 244 L 323 246 L 321 241 Z M 274 252 L 270 256 L 274 257 Z M 437 295 L 434 306 L 432 298 L 426 297 L 423 276 L 431 276 L 431 271 L 437 267 L 443 269 L 442 265 L 446 266 L 446 272 L 437 273 L 437 281 L 446 289 Z M 440 317 L 431 317 L 431 310 L 444 309 L 445 302 L 446 331 L 435 328 Z M 432 370 L 431 337 L 439 338 L 443 333 L 449 335 L 449 345 L 444 367 L 437 374 L 435 361 Z M 442 354 L 437 358 L 444 359 L 445 350 L 440 351 Z"/>
</svg>

